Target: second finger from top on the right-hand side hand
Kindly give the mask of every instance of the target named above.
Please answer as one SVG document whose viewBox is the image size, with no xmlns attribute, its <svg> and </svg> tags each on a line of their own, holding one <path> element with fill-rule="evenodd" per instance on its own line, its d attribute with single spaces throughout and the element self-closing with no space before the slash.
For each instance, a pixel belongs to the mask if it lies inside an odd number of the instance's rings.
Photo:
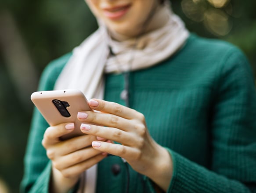
<svg viewBox="0 0 256 193">
<path fill-rule="evenodd" d="M 98 113 L 92 111 L 78 112 L 77 117 L 81 122 L 92 123 L 95 125 L 115 127 L 125 131 L 135 129 L 133 120 L 124 119 L 108 113 Z"/>
</svg>

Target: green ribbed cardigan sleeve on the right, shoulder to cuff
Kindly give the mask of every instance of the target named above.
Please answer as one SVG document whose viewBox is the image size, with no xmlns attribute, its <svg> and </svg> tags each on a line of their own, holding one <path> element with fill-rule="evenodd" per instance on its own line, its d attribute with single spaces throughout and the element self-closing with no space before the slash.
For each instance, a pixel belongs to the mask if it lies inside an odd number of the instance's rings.
<svg viewBox="0 0 256 193">
<path fill-rule="evenodd" d="M 256 89 L 245 56 L 232 48 L 216 81 L 210 121 L 211 164 L 204 168 L 168 149 L 168 193 L 256 193 Z"/>
</svg>

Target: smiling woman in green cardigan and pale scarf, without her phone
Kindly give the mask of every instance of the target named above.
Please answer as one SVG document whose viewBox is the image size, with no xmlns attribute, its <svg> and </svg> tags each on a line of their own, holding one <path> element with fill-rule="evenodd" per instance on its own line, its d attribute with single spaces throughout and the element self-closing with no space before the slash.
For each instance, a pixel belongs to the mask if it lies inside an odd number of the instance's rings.
<svg viewBox="0 0 256 193">
<path fill-rule="evenodd" d="M 94 98 L 78 113 L 88 135 L 61 141 L 74 124 L 35 111 L 22 192 L 256 192 L 256 91 L 240 50 L 189 34 L 161 0 L 87 4 L 99 29 L 39 90 Z"/>
</svg>

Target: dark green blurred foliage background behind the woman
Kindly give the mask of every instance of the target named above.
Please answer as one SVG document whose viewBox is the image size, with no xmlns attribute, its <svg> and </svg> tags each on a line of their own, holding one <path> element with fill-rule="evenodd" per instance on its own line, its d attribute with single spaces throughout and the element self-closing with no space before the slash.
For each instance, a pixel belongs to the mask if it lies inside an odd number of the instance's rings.
<svg viewBox="0 0 256 193">
<path fill-rule="evenodd" d="M 145 1 L 146 3 L 146 1 Z M 172 0 L 198 35 L 240 47 L 256 72 L 256 1 Z M 78 46 L 97 24 L 83 0 L 0 2 L 0 193 L 18 193 L 36 91 L 43 68 Z"/>
</svg>

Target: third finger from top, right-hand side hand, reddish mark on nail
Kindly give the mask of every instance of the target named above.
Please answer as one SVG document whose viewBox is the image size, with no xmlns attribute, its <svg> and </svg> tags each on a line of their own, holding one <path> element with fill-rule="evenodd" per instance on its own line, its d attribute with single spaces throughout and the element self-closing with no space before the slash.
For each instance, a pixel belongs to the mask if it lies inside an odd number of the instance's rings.
<svg viewBox="0 0 256 193">
<path fill-rule="evenodd" d="M 130 145 L 130 146 L 136 143 L 136 140 L 135 140 L 136 138 L 134 137 L 133 133 L 125 132 L 123 130 L 119 130 L 113 127 L 88 125 L 88 124 L 82 123 L 80 129 L 83 133 L 97 136 L 97 138 L 104 137 L 108 140 L 117 141 L 119 143 Z"/>
</svg>

